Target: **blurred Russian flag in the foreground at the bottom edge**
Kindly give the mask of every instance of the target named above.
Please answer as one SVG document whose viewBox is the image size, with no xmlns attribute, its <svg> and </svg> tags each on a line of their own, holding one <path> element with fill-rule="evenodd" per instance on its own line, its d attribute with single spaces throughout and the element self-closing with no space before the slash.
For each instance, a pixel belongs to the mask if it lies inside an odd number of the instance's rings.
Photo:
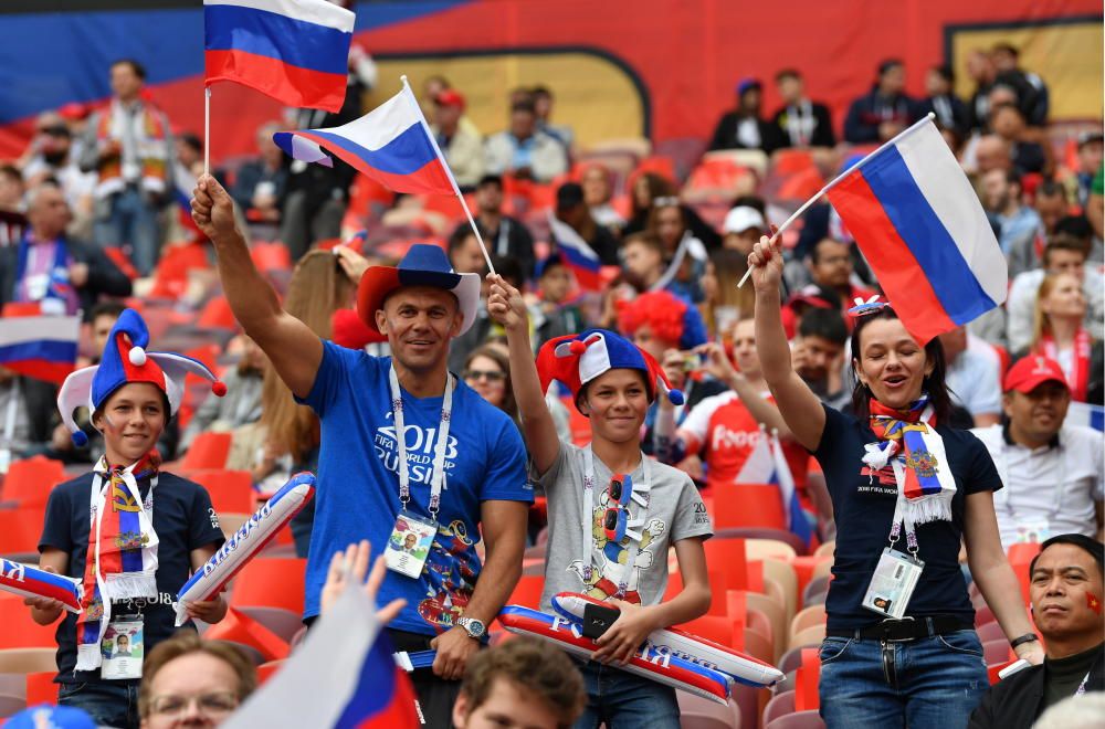
<svg viewBox="0 0 1105 729">
<path fill-rule="evenodd" d="M 410 679 L 396 665 L 376 605 L 355 587 L 341 593 L 299 649 L 223 723 L 225 729 L 418 726 Z"/>
</svg>

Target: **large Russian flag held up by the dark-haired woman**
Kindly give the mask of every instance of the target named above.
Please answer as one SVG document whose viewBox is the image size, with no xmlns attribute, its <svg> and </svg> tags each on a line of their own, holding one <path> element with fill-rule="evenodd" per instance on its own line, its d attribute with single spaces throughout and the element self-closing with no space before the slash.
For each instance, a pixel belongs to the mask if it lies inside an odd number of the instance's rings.
<svg viewBox="0 0 1105 729">
<path fill-rule="evenodd" d="M 932 116 L 856 162 L 827 192 L 922 344 L 1006 300 L 1006 257 Z"/>
</svg>

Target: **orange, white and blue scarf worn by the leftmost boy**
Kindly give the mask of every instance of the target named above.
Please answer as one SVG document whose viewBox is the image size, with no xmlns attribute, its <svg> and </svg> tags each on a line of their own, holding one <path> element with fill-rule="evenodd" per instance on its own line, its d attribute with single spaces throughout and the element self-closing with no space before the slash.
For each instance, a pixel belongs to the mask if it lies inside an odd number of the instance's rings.
<svg viewBox="0 0 1105 729">
<path fill-rule="evenodd" d="M 160 462 L 157 451 L 150 451 L 129 467 L 109 466 L 102 456 L 94 468 L 84 596 L 76 621 L 77 670 L 99 667 L 99 643 L 112 620 L 113 600 L 157 596 L 154 486 L 144 504 L 138 482 L 156 478 Z"/>
</svg>

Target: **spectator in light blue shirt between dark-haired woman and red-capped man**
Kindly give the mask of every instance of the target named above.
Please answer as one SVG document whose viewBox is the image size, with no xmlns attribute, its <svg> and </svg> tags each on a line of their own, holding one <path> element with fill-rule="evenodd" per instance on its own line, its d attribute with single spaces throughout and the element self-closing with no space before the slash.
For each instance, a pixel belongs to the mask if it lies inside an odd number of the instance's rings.
<svg viewBox="0 0 1105 729">
<path fill-rule="evenodd" d="M 951 402 L 971 416 L 971 426 L 988 427 L 1001 419 L 1001 358 L 978 337 L 959 326 L 940 335 L 945 382 Z"/>
</svg>

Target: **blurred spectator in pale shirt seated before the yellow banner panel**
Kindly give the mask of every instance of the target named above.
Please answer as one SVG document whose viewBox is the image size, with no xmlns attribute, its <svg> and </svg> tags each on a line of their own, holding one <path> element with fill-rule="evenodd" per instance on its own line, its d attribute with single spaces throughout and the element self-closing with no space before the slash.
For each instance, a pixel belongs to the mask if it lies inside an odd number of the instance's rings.
<svg viewBox="0 0 1105 729">
<path fill-rule="evenodd" d="M 537 182 L 549 182 L 568 171 L 567 150 L 538 128 L 532 99 L 512 104 L 509 128 L 487 138 L 487 171 Z"/>
</svg>

